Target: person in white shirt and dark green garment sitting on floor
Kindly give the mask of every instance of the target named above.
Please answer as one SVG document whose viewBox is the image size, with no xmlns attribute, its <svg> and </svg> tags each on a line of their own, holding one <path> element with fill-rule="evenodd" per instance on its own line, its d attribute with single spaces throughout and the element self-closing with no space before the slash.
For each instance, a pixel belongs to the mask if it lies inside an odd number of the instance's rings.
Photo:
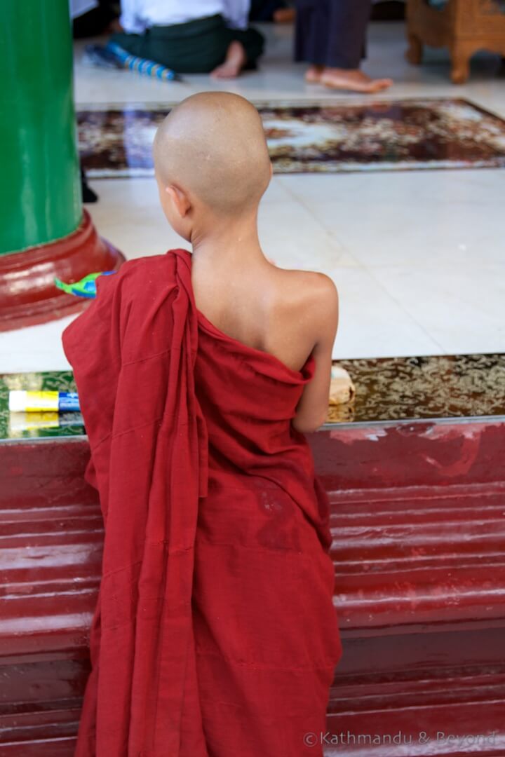
<svg viewBox="0 0 505 757">
<path fill-rule="evenodd" d="M 264 37 L 248 26 L 250 0 L 122 0 L 111 42 L 177 73 L 222 79 L 256 68 Z"/>
</svg>

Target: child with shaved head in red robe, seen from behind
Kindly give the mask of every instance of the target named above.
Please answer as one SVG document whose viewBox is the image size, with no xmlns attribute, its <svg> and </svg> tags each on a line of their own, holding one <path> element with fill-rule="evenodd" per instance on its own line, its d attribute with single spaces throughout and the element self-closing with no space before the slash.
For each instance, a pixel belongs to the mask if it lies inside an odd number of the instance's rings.
<svg viewBox="0 0 505 757">
<path fill-rule="evenodd" d="M 76 755 L 321 757 L 342 650 L 303 432 L 326 417 L 337 291 L 263 254 L 272 169 L 244 98 L 187 98 L 154 161 L 192 254 L 99 277 L 63 337 L 105 526 Z"/>
</svg>

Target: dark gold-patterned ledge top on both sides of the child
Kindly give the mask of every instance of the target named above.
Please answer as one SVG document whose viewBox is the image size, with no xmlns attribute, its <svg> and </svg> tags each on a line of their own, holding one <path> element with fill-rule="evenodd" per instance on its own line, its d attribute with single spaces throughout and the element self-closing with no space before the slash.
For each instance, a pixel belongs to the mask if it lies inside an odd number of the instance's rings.
<svg viewBox="0 0 505 757">
<path fill-rule="evenodd" d="M 505 416 L 505 354 L 334 363 L 351 375 L 356 396 L 330 407 L 330 423 Z M 80 413 L 9 413 L 10 389 L 76 391 L 76 385 L 71 371 L 0 374 L 0 441 L 85 433 Z"/>
</svg>

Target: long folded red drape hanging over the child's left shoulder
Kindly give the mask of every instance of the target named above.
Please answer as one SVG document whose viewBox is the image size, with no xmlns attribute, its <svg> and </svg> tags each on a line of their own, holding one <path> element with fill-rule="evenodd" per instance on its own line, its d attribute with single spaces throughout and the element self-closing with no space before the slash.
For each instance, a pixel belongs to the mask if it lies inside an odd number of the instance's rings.
<svg viewBox="0 0 505 757">
<path fill-rule="evenodd" d="M 164 255 L 98 277 L 62 341 L 105 530 L 76 757 L 177 757 L 181 743 L 206 757 L 191 601 L 207 439 L 189 267 Z"/>
</svg>

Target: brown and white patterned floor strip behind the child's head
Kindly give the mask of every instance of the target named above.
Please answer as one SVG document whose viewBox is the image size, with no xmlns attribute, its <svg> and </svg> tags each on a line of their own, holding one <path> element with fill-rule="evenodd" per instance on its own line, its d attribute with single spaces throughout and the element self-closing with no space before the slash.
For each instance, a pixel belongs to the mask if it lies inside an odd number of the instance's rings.
<svg viewBox="0 0 505 757">
<path fill-rule="evenodd" d="M 461 99 L 258 104 L 276 173 L 505 166 L 505 121 Z M 77 113 L 90 178 L 152 176 L 154 132 L 170 106 Z"/>
</svg>

